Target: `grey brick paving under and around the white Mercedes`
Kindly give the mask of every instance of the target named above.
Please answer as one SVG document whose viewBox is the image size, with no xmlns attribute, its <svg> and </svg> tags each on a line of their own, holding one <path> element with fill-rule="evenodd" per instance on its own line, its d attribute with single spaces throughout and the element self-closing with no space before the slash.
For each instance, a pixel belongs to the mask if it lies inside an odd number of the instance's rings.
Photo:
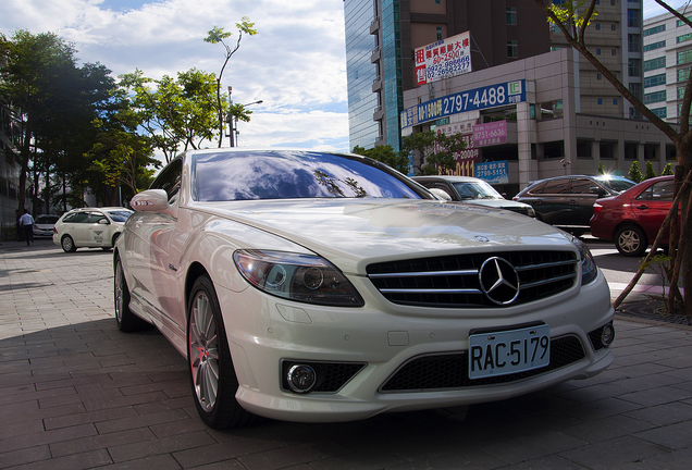
<svg viewBox="0 0 692 470">
<path fill-rule="evenodd" d="M 1 469 L 690 468 L 690 327 L 618 319 L 605 373 L 517 399 L 219 432 L 173 347 L 116 330 L 111 256 L 0 245 Z"/>
</svg>

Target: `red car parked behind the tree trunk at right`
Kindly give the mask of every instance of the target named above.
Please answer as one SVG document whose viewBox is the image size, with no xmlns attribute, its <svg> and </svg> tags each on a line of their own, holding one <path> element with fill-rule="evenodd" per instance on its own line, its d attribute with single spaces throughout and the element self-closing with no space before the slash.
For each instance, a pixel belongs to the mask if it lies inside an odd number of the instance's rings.
<svg viewBox="0 0 692 470">
<path fill-rule="evenodd" d="M 593 205 L 591 234 L 614 240 L 625 256 L 644 255 L 670 210 L 674 184 L 674 176 L 658 176 L 618 196 L 598 199 Z M 668 243 L 667 234 L 663 243 Z"/>
</svg>

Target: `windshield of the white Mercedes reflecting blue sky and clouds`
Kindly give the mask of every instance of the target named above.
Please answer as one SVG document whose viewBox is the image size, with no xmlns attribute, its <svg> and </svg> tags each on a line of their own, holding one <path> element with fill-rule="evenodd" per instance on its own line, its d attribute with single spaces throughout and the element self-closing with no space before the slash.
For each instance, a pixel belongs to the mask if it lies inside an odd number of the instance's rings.
<svg viewBox="0 0 692 470">
<path fill-rule="evenodd" d="M 195 157 L 193 190 L 198 201 L 432 198 L 400 173 L 356 156 L 267 150 Z"/>
</svg>

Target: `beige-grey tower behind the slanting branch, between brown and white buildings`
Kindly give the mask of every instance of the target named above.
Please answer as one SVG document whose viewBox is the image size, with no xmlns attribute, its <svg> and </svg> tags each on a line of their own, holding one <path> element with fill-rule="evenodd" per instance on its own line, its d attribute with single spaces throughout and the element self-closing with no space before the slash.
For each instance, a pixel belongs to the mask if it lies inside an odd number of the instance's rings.
<svg viewBox="0 0 692 470">
<path fill-rule="evenodd" d="M 555 1 L 554 3 L 558 3 Z M 638 98 L 642 98 L 642 3 L 597 0 L 597 14 L 584 36 L 586 47 Z M 570 47 L 556 25 L 551 25 L 552 49 Z M 579 59 L 581 109 L 578 112 L 616 118 L 638 118 L 637 110 L 589 61 Z"/>
</svg>

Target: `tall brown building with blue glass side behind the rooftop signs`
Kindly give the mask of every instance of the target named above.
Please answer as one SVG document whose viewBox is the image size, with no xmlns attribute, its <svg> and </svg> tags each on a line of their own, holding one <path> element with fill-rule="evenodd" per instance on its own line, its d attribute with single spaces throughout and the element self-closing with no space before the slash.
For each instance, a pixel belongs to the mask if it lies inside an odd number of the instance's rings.
<svg viewBox="0 0 692 470">
<path fill-rule="evenodd" d="M 398 149 L 404 90 L 416 87 L 416 48 L 470 32 L 471 66 L 482 70 L 551 47 L 545 12 L 534 2 L 345 0 L 344 11 L 351 147 Z"/>
</svg>

